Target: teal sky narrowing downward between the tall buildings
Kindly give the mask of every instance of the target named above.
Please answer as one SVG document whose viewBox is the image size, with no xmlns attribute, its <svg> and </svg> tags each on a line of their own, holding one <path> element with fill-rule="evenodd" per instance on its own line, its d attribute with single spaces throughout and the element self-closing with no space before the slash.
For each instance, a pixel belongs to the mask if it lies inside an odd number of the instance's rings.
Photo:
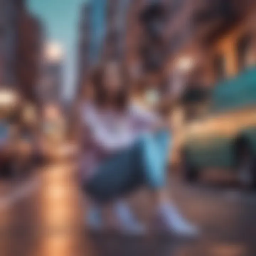
<svg viewBox="0 0 256 256">
<path fill-rule="evenodd" d="M 65 52 L 64 96 L 72 95 L 76 79 L 78 21 L 86 0 L 29 0 L 31 12 L 44 23 L 49 41 L 62 44 Z"/>
</svg>

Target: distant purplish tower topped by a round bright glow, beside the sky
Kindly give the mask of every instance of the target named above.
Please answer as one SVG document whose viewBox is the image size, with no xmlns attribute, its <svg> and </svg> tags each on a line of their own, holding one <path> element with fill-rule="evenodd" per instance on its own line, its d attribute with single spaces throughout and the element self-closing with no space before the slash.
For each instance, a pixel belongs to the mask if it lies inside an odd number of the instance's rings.
<svg viewBox="0 0 256 256">
<path fill-rule="evenodd" d="M 44 46 L 38 97 L 41 103 L 62 103 L 64 52 L 60 44 L 48 42 Z"/>
</svg>

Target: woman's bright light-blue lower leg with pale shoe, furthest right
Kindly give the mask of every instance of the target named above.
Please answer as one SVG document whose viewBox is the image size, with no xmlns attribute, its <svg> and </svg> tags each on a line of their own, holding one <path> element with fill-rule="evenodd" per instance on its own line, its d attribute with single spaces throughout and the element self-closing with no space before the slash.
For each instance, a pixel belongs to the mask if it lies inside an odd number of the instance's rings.
<svg viewBox="0 0 256 256">
<path fill-rule="evenodd" d="M 181 235 L 195 234 L 196 228 L 189 224 L 170 202 L 166 189 L 169 134 L 165 131 L 155 135 L 145 134 L 141 143 L 145 181 L 153 193 L 158 226 Z"/>
</svg>

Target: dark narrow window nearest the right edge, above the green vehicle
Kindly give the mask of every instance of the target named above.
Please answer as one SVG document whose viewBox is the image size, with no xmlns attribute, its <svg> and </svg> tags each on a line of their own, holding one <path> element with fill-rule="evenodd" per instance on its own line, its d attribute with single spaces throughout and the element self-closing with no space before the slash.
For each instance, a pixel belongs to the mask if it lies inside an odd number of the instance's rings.
<svg viewBox="0 0 256 256">
<path fill-rule="evenodd" d="M 246 35 L 237 43 L 237 54 L 238 54 L 238 68 L 239 71 L 244 70 L 249 65 L 249 55 L 252 45 L 252 37 Z"/>
</svg>

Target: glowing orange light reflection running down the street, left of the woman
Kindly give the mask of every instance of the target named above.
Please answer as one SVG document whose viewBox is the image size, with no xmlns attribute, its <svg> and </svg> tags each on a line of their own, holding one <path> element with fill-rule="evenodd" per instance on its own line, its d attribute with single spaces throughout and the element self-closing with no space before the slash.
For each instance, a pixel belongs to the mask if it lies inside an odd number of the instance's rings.
<svg viewBox="0 0 256 256">
<path fill-rule="evenodd" d="M 42 256 L 81 252 L 81 204 L 74 169 L 63 164 L 46 168 L 39 196 Z"/>
</svg>

